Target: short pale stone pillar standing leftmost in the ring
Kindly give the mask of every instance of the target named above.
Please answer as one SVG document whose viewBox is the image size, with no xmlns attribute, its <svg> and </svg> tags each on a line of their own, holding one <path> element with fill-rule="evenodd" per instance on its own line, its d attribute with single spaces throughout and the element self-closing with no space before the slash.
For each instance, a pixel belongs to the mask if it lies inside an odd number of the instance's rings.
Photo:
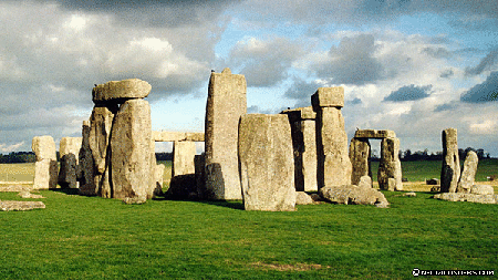
<svg viewBox="0 0 498 280">
<path fill-rule="evenodd" d="M 31 148 L 37 162 L 34 163 L 34 189 L 56 188 L 58 186 L 58 160 L 55 154 L 55 142 L 52 136 L 33 137 Z"/>
</svg>

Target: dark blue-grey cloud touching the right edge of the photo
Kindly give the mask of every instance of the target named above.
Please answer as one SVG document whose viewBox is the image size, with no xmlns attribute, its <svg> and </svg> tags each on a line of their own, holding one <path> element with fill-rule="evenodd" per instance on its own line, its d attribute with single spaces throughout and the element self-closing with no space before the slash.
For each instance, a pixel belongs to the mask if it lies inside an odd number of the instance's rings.
<svg viewBox="0 0 498 280">
<path fill-rule="evenodd" d="M 466 103 L 498 101 L 498 71 L 491 72 L 486 81 L 464 93 L 460 96 L 460 101 Z"/>
</svg>

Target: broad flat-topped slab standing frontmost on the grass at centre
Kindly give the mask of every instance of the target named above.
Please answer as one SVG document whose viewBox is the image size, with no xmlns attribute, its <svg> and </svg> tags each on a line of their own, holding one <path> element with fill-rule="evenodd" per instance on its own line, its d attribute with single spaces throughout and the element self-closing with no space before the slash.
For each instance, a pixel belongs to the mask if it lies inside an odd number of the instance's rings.
<svg viewBox="0 0 498 280">
<path fill-rule="evenodd" d="M 294 164 L 289 118 L 286 115 L 243 115 L 238 144 L 245 209 L 294 210 Z"/>
</svg>

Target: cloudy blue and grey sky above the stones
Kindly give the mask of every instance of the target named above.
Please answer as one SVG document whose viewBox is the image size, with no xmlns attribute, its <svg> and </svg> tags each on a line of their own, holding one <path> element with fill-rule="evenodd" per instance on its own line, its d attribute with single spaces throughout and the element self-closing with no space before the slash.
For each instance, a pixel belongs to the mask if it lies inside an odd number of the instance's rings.
<svg viewBox="0 0 498 280">
<path fill-rule="evenodd" d="M 438 152 L 454 127 L 498 157 L 496 0 L 0 1 L 0 153 L 81 136 L 94 84 L 131 77 L 153 87 L 153 129 L 203 132 L 225 68 L 246 76 L 248 113 L 343 86 L 349 139 L 392 129 L 402 151 Z"/>
</svg>

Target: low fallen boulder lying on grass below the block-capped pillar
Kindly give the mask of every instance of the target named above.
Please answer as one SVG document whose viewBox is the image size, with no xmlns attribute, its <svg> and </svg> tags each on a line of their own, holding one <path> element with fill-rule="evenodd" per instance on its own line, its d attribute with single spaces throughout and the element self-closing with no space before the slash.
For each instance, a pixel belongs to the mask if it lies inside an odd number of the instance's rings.
<svg viewBox="0 0 498 280">
<path fill-rule="evenodd" d="M 388 205 L 387 199 L 381 191 L 355 185 L 323 187 L 319 190 L 319 194 L 323 199 L 333 204 L 375 205 L 383 203 Z"/>
</svg>

